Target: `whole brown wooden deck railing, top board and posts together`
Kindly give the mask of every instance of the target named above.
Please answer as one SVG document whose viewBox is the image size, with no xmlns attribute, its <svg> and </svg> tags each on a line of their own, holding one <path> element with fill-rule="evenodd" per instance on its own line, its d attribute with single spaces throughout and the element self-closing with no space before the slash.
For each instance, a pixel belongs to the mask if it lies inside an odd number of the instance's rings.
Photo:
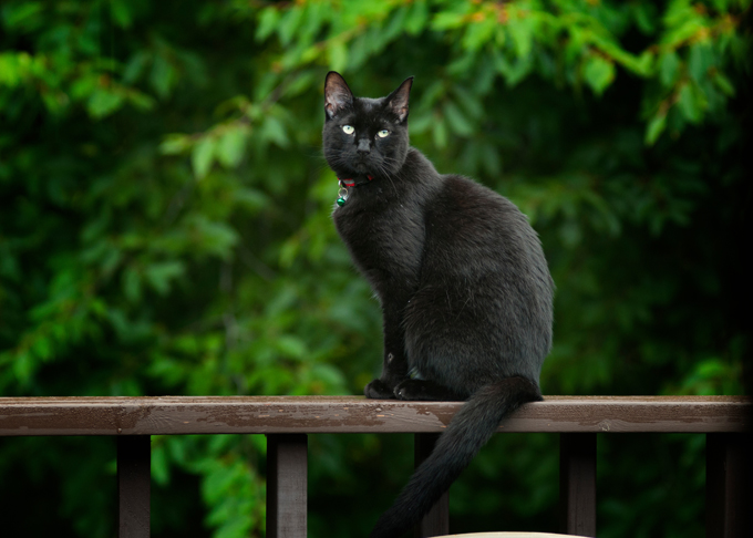
<svg viewBox="0 0 753 538">
<path fill-rule="evenodd" d="M 267 536 L 305 538 L 307 435 L 413 433 L 416 463 L 462 404 L 362 397 L 41 397 L 0 399 L 0 436 L 117 437 L 118 536 L 149 536 L 149 436 L 267 435 Z M 560 435 L 563 531 L 596 536 L 597 434 L 706 435 L 706 537 L 753 536 L 753 399 L 744 396 L 548 396 L 525 405 L 499 432 Z M 447 534 L 447 499 L 416 536 Z"/>
</svg>

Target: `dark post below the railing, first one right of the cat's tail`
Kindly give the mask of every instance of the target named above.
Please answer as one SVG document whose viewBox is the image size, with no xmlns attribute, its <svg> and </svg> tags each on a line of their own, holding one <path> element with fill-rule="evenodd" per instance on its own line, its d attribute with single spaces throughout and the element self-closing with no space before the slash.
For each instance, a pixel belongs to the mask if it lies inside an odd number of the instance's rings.
<svg viewBox="0 0 753 538">
<path fill-rule="evenodd" d="M 559 435 L 559 507 L 565 534 L 596 536 L 596 434 Z"/>
</svg>

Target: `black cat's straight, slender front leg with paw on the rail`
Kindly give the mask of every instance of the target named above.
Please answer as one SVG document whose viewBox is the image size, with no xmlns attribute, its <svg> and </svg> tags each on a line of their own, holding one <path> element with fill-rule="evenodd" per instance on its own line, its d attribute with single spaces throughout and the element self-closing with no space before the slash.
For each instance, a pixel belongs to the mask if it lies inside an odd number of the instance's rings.
<svg viewBox="0 0 753 538">
<path fill-rule="evenodd" d="M 382 375 L 363 389 L 369 399 L 395 399 L 394 389 L 409 379 L 408 358 L 405 356 L 405 333 L 402 329 L 403 309 L 383 306 L 384 314 L 384 358 Z"/>
</svg>

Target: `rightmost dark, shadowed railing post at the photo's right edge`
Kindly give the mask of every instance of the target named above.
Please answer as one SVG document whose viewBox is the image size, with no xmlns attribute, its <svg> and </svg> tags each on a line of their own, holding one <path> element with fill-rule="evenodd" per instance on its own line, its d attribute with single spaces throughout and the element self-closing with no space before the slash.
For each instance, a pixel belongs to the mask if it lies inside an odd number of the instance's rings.
<svg viewBox="0 0 753 538">
<path fill-rule="evenodd" d="M 753 536 L 751 434 L 706 434 L 706 538 Z"/>
</svg>

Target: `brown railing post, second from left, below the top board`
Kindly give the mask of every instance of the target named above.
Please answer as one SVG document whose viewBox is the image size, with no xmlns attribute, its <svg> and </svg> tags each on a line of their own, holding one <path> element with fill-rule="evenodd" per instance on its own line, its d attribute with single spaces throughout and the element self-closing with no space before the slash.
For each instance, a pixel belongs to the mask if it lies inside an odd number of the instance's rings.
<svg viewBox="0 0 753 538">
<path fill-rule="evenodd" d="M 267 538 L 306 538 L 308 436 L 267 435 Z"/>
</svg>

